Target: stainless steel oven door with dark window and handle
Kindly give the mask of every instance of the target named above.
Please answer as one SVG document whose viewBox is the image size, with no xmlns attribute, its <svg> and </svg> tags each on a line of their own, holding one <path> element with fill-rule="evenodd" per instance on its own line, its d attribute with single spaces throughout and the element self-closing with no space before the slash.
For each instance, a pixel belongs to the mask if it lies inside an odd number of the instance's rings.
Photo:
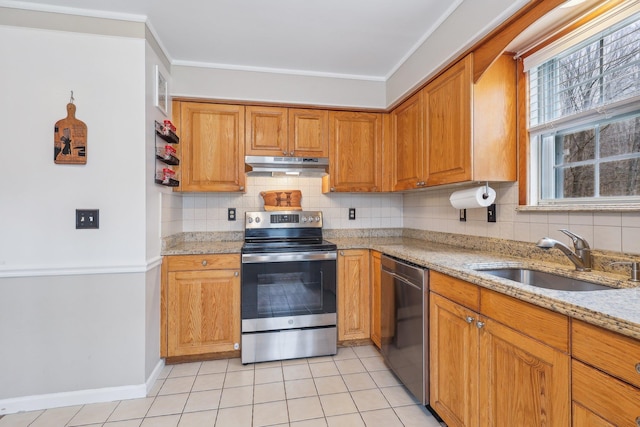
<svg viewBox="0 0 640 427">
<path fill-rule="evenodd" d="M 242 255 L 242 332 L 336 324 L 336 251 Z"/>
</svg>

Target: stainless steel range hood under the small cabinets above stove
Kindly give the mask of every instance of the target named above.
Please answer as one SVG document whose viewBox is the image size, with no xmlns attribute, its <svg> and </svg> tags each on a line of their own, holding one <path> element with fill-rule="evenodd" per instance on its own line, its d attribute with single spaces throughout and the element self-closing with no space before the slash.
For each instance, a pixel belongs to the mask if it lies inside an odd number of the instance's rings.
<svg viewBox="0 0 640 427">
<path fill-rule="evenodd" d="M 260 176 L 323 176 L 329 167 L 326 157 L 245 156 L 244 162 L 251 167 L 247 174 Z"/>
</svg>

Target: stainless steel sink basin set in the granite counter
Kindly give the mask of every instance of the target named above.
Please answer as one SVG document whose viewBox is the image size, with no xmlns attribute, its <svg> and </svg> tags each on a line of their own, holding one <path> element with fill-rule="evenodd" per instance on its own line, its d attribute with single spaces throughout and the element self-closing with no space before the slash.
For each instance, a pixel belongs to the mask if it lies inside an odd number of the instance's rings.
<svg viewBox="0 0 640 427">
<path fill-rule="evenodd" d="M 524 283 L 525 285 L 555 289 L 557 291 L 605 291 L 616 289 L 580 279 L 572 279 L 570 277 L 526 268 L 494 268 L 486 270 L 478 269 L 478 271 Z"/>
</svg>

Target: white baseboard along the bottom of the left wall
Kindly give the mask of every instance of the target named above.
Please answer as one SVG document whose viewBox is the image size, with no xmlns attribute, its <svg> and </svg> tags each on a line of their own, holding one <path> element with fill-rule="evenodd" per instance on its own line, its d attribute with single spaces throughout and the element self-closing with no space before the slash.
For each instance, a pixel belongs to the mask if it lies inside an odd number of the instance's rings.
<svg viewBox="0 0 640 427">
<path fill-rule="evenodd" d="M 37 411 L 62 406 L 86 405 L 90 403 L 113 402 L 115 400 L 139 399 L 146 397 L 164 368 L 160 359 L 144 384 L 78 390 L 64 393 L 39 394 L 0 400 L 0 415 L 16 412 Z"/>
</svg>

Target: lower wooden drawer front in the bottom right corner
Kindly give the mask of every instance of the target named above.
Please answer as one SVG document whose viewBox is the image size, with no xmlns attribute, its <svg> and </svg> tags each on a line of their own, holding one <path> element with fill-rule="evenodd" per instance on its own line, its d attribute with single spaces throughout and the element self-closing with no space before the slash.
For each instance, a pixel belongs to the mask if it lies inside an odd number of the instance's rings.
<svg viewBox="0 0 640 427">
<path fill-rule="evenodd" d="M 591 368 L 572 363 L 573 400 L 616 426 L 640 422 L 640 390 Z"/>
</svg>

